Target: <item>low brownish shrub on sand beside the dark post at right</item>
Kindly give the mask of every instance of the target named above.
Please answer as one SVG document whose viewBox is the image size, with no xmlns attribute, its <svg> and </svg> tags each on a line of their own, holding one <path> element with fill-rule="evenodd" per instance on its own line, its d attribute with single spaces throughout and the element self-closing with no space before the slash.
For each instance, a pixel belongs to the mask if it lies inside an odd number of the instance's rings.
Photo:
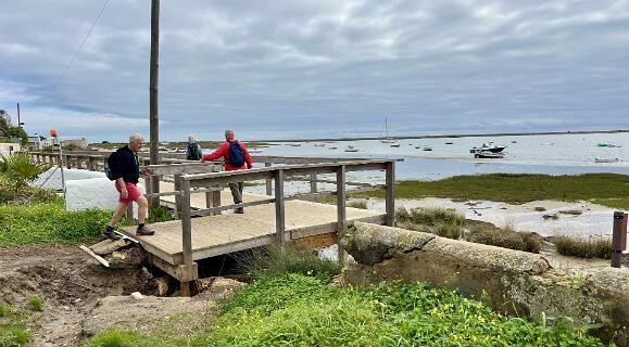
<svg viewBox="0 0 629 347">
<path fill-rule="evenodd" d="M 554 236 L 552 240 L 557 253 L 564 256 L 578 258 L 612 258 L 612 241 L 604 237 L 570 237 L 567 235 Z"/>
</svg>

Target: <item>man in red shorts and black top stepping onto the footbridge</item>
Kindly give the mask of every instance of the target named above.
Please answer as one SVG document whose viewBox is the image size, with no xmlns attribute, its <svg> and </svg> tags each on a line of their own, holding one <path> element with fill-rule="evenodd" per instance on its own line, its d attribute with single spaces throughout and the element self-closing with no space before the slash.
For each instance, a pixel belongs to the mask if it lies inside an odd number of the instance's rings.
<svg viewBox="0 0 629 347">
<path fill-rule="evenodd" d="M 155 232 L 149 230 L 144 226 L 147 218 L 147 210 L 149 209 L 149 202 L 147 197 L 138 190 L 138 181 L 140 179 L 140 162 L 138 159 L 138 151 L 142 147 L 144 138 L 141 134 L 135 133 L 129 137 L 129 144 L 118 149 L 112 153 L 108 159 L 109 169 L 112 174 L 112 179 L 115 180 L 116 190 L 119 193 L 118 207 L 114 211 L 112 219 L 103 234 L 105 237 L 115 239 L 114 229 L 117 222 L 127 210 L 127 205 L 133 202 L 138 203 L 138 229 L 137 235 L 152 235 Z M 130 216 L 128 216 L 130 218 Z"/>
</svg>

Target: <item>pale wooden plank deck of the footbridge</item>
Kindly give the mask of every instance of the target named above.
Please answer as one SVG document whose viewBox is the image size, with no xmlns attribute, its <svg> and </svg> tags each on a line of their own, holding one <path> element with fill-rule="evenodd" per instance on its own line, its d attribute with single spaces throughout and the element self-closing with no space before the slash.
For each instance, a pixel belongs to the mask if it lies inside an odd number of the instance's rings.
<svg viewBox="0 0 629 347">
<path fill-rule="evenodd" d="M 192 207 L 204 208 L 203 194 L 191 198 Z M 230 202 L 229 192 L 223 192 L 222 200 Z M 194 196 L 194 195 L 192 195 Z M 268 198 L 266 195 L 244 194 L 244 201 Z M 337 206 L 305 201 L 286 203 L 287 241 L 337 231 Z M 385 214 L 347 208 L 347 222 L 368 221 L 383 223 Z M 244 214 L 226 211 L 218 216 L 192 218 L 192 259 L 229 254 L 254 248 L 276 241 L 275 204 L 244 208 Z M 140 241 L 142 247 L 169 265 L 184 262 L 181 221 L 173 220 L 150 224 L 155 231 L 151 236 L 135 236 L 136 227 L 124 228 L 124 233 Z"/>
</svg>

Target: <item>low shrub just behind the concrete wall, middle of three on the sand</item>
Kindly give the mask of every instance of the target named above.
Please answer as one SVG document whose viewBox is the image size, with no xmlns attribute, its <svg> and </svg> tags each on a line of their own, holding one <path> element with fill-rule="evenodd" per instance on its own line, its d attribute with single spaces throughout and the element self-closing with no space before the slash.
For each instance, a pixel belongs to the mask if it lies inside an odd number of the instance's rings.
<svg viewBox="0 0 629 347">
<path fill-rule="evenodd" d="M 513 227 L 496 228 L 485 222 L 469 222 L 469 234 L 465 237 L 469 242 L 481 243 L 503 248 L 540 253 L 541 239 L 530 232 L 518 232 Z"/>
</svg>

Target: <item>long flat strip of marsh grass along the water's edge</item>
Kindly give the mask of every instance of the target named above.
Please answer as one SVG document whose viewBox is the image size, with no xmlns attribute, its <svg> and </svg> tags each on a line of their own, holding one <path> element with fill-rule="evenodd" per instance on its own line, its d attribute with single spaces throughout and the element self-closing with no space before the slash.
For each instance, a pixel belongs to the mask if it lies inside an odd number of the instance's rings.
<svg viewBox="0 0 629 347">
<path fill-rule="evenodd" d="M 385 197 L 385 191 L 362 196 Z M 613 208 L 629 209 L 629 176 L 587 174 L 578 176 L 491 174 L 456 176 L 439 181 L 401 181 L 398 198 L 428 196 L 460 201 L 489 200 L 527 203 L 537 200 L 592 201 Z"/>
</svg>

